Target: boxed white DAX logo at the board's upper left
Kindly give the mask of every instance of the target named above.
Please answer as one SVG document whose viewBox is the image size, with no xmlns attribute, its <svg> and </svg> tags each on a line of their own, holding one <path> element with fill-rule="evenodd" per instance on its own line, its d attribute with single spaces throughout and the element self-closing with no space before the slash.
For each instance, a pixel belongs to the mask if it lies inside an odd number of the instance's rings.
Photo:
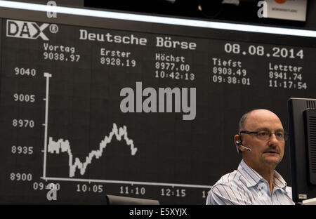
<svg viewBox="0 0 316 219">
<path fill-rule="evenodd" d="M 49 24 L 37 25 L 36 22 L 27 22 L 20 20 L 7 20 L 6 21 L 6 36 L 24 38 L 24 39 L 37 39 L 39 36 L 43 40 L 48 40 L 44 34 L 44 29 Z"/>
</svg>

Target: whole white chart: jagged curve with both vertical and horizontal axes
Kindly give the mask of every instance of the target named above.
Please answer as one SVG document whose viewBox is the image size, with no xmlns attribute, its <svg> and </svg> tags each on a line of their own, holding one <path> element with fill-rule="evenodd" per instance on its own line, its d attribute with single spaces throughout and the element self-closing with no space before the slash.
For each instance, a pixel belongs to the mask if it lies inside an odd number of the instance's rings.
<svg viewBox="0 0 316 219">
<path fill-rule="evenodd" d="M 207 188 L 209 189 L 210 185 L 195 185 L 195 184 L 186 184 L 186 183 L 162 183 L 162 182 L 145 182 L 145 181 L 136 181 L 136 180 L 103 180 L 103 179 L 93 179 L 93 178 L 74 178 L 77 168 L 79 169 L 81 175 L 84 175 L 88 164 L 91 164 L 93 158 L 99 159 L 102 157 L 105 147 L 112 142 L 112 138 L 115 137 L 117 140 L 121 141 L 122 138 L 125 140 L 126 145 L 130 146 L 131 155 L 135 155 L 138 148 L 134 146 L 133 140 L 128 138 L 126 126 L 119 127 L 117 124 L 113 123 L 112 131 L 108 135 L 105 135 L 105 138 L 101 140 L 98 150 L 92 150 L 86 156 L 85 161 L 81 162 L 79 158 L 74 158 L 71 150 L 71 145 L 69 140 L 63 140 L 62 138 L 58 140 L 53 140 L 53 137 L 48 137 L 48 102 L 49 102 L 49 79 L 52 77 L 52 74 L 44 73 L 46 77 L 46 98 L 45 101 L 45 127 L 44 131 L 44 150 L 41 152 L 44 153 L 44 166 L 43 166 L 43 180 L 53 180 L 53 181 L 67 181 L 67 182 L 87 182 L 87 183 L 116 183 L 116 184 L 129 184 L 129 185 L 155 185 L 155 186 L 171 186 L 171 187 L 192 187 L 192 188 Z M 50 154 L 60 154 L 67 153 L 69 156 L 69 178 L 60 178 L 46 175 L 46 163 L 47 163 L 47 153 Z"/>
</svg>

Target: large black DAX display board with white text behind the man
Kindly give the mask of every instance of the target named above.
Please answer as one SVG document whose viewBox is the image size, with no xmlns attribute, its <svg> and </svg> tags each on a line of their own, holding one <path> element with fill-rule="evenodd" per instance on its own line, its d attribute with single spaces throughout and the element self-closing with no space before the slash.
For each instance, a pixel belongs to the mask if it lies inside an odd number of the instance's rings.
<svg viewBox="0 0 316 219">
<path fill-rule="evenodd" d="M 1 203 L 204 204 L 244 112 L 287 128 L 287 100 L 316 94 L 315 39 L 73 19 L 1 20 Z"/>
</svg>

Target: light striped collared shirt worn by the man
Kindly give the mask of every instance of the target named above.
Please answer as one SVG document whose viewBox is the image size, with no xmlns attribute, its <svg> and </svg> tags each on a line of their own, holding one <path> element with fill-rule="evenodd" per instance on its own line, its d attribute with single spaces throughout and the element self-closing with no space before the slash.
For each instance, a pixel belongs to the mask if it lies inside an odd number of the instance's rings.
<svg viewBox="0 0 316 219">
<path fill-rule="evenodd" d="M 294 204 L 291 197 L 291 187 L 287 186 L 287 183 L 277 171 L 274 173 L 273 192 L 271 194 L 267 180 L 242 160 L 237 170 L 223 175 L 213 185 L 207 196 L 206 204 L 291 205 Z"/>
</svg>

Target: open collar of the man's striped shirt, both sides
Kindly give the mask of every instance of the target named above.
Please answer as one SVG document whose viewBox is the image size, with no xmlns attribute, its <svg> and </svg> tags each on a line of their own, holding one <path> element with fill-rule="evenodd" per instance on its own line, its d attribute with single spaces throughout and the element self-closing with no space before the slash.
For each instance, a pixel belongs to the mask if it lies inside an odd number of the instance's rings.
<svg viewBox="0 0 316 219">
<path fill-rule="evenodd" d="M 243 180 L 246 183 L 247 187 L 253 187 L 262 181 L 266 181 L 259 173 L 257 173 L 253 168 L 248 166 L 244 159 L 240 162 L 238 166 L 238 171 L 244 176 Z M 273 184 L 279 188 L 284 188 L 287 186 L 287 183 L 282 178 L 282 176 L 274 171 Z"/>
</svg>

